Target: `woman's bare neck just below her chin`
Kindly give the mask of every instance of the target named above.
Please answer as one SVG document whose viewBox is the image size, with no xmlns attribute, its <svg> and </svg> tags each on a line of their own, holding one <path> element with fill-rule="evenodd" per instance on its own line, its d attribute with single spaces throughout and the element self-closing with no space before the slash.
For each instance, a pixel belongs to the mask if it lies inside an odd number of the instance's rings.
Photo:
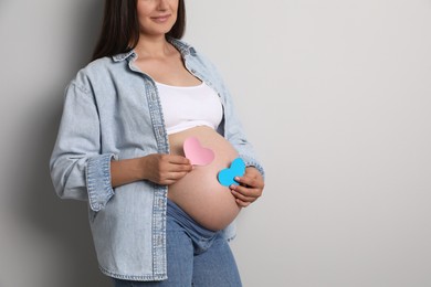
<svg viewBox="0 0 431 287">
<path fill-rule="evenodd" d="M 171 45 L 161 36 L 140 36 L 135 47 L 139 57 L 165 57 L 171 51 Z"/>
</svg>

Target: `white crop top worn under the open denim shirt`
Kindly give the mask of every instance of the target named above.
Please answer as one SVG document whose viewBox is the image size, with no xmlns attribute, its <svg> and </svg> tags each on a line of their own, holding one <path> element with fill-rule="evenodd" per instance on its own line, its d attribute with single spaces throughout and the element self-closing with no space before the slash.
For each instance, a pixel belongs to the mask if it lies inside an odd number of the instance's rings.
<svg viewBox="0 0 431 287">
<path fill-rule="evenodd" d="M 219 127 L 223 108 L 219 95 L 206 83 L 187 87 L 156 85 L 168 135 L 198 126 Z"/>
</svg>

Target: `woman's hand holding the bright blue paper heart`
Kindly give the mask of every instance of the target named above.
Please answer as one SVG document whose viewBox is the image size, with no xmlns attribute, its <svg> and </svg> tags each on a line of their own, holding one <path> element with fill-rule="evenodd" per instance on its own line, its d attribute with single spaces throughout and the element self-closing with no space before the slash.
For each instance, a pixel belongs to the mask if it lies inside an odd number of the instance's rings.
<svg viewBox="0 0 431 287">
<path fill-rule="evenodd" d="M 235 181 L 240 184 L 232 184 L 230 189 L 239 206 L 246 208 L 262 195 L 265 183 L 257 169 L 246 168 L 245 174 L 236 177 Z"/>
</svg>

